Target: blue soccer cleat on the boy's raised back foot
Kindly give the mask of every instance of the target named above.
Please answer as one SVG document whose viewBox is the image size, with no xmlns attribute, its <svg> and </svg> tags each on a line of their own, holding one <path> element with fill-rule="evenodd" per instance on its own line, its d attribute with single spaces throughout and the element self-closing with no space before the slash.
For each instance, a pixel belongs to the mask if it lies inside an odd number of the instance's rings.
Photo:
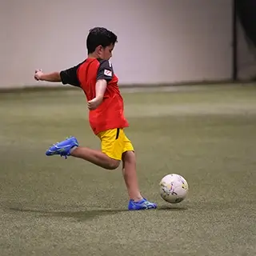
<svg viewBox="0 0 256 256">
<path fill-rule="evenodd" d="M 70 155 L 70 150 L 78 146 L 78 140 L 75 137 L 66 138 L 65 141 L 58 142 L 53 146 L 50 146 L 49 150 L 46 151 L 47 156 L 59 154 L 62 157 L 67 158 Z"/>
</svg>

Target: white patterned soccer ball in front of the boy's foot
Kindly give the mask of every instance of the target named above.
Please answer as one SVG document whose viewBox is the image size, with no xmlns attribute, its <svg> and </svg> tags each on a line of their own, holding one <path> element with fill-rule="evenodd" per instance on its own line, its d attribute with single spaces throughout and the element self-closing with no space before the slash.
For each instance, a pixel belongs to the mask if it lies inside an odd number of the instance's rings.
<svg viewBox="0 0 256 256">
<path fill-rule="evenodd" d="M 182 202 L 189 190 L 186 179 L 178 174 L 166 175 L 159 185 L 162 199 L 170 203 Z"/>
</svg>

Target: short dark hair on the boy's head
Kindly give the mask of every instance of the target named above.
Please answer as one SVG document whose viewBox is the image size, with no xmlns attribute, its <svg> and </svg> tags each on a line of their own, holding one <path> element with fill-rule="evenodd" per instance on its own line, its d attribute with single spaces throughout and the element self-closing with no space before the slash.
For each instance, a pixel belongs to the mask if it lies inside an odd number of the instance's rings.
<svg viewBox="0 0 256 256">
<path fill-rule="evenodd" d="M 116 42 L 118 42 L 118 37 L 112 31 L 104 27 L 94 27 L 90 30 L 86 39 L 88 54 L 93 53 L 97 46 L 105 48 L 111 44 L 114 45 Z"/>
</svg>

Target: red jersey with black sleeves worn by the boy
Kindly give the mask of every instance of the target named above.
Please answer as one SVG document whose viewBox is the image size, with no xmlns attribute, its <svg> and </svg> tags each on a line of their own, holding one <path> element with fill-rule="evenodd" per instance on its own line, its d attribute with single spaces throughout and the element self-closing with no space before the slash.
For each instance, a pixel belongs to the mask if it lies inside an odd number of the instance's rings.
<svg viewBox="0 0 256 256">
<path fill-rule="evenodd" d="M 124 117 L 122 95 L 118 88 L 118 78 L 114 74 L 109 61 L 98 58 L 87 58 L 84 62 L 60 73 L 63 84 L 70 84 L 82 88 L 87 101 L 96 96 L 96 82 L 105 79 L 106 91 L 102 104 L 96 110 L 89 111 L 90 127 L 94 134 L 101 131 L 125 128 L 129 126 Z"/>
</svg>

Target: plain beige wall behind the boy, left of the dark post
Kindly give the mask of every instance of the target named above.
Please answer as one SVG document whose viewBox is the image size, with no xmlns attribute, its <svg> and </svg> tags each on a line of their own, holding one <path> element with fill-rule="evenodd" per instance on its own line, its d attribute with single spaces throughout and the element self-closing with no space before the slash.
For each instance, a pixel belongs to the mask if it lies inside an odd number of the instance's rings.
<svg viewBox="0 0 256 256">
<path fill-rule="evenodd" d="M 35 68 L 82 61 L 93 26 L 118 34 L 112 62 L 122 84 L 230 78 L 230 2 L 2 0 L 0 86 L 34 85 Z"/>
</svg>

